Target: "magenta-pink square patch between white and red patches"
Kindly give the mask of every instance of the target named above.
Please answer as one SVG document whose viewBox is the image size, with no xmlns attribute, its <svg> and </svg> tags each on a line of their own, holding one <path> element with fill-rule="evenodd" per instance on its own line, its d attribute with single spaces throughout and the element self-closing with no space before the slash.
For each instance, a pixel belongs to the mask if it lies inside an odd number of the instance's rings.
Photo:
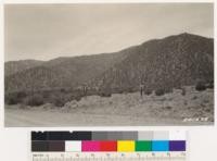
<svg viewBox="0 0 217 161">
<path fill-rule="evenodd" d="M 100 141 L 85 140 L 81 141 L 82 151 L 100 151 Z"/>
</svg>

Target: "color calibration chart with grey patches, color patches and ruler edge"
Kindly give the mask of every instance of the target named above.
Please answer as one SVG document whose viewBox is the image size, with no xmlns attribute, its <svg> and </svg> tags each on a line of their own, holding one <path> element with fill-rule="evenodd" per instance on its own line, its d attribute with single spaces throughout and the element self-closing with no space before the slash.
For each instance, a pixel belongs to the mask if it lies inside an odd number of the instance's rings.
<svg viewBox="0 0 217 161">
<path fill-rule="evenodd" d="M 31 161 L 186 161 L 186 131 L 31 132 Z"/>
</svg>

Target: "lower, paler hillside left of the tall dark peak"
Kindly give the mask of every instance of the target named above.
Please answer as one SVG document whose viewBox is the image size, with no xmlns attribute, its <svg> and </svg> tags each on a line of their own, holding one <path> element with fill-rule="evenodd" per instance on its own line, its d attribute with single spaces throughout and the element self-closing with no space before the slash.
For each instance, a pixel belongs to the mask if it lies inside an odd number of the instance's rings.
<svg viewBox="0 0 217 161">
<path fill-rule="evenodd" d="M 7 70 L 9 64 L 5 63 L 5 91 L 77 87 L 90 82 L 124 58 L 122 53 L 58 58 L 36 67 L 14 69 L 14 74 L 10 75 Z"/>
</svg>

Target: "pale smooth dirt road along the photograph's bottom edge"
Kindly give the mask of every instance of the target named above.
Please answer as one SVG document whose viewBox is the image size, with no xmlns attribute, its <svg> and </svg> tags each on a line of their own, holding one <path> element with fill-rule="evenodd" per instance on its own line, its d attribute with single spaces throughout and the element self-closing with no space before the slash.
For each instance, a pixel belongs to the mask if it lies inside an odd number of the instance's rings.
<svg viewBox="0 0 217 161">
<path fill-rule="evenodd" d="M 7 127 L 42 126 L 106 126 L 106 125 L 208 125 L 209 122 L 183 122 L 182 120 L 154 119 L 130 115 L 103 115 L 87 113 L 60 113 L 58 111 L 5 110 Z"/>
</svg>

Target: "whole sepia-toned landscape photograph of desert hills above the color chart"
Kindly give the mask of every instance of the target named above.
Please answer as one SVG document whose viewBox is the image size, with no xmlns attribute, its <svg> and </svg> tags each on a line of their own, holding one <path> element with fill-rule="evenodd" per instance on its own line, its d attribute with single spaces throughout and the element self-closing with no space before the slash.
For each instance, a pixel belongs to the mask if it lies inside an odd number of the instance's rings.
<svg viewBox="0 0 217 161">
<path fill-rule="evenodd" d="M 214 3 L 4 4 L 4 126 L 214 125 Z"/>
</svg>

